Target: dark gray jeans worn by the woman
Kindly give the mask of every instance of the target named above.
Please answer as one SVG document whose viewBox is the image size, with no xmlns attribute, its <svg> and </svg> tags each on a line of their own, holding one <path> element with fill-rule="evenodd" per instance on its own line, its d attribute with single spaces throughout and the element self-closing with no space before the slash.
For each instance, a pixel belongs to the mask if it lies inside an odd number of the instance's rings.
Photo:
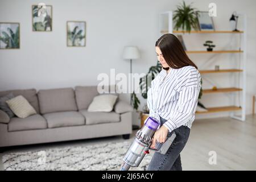
<svg viewBox="0 0 256 182">
<path fill-rule="evenodd" d="M 160 118 L 161 125 L 166 122 L 166 119 Z M 167 136 L 172 135 L 175 132 L 176 138 L 172 142 L 170 148 L 167 150 L 166 154 L 160 154 L 160 152 L 155 152 L 151 162 L 147 168 L 148 171 L 181 171 L 181 160 L 180 152 L 183 150 L 185 144 L 187 143 L 190 129 L 187 126 L 180 126 L 171 133 L 169 132 Z"/>
</svg>

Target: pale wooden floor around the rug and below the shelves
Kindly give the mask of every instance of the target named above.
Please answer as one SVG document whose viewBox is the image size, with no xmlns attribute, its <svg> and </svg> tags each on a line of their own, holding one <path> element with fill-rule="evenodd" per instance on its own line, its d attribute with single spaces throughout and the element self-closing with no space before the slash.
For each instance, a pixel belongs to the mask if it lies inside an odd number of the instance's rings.
<svg viewBox="0 0 256 182">
<path fill-rule="evenodd" d="M 134 130 L 133 136 L 136 131 Z M 39 144 L 18 147 L 8 152 L 46 150 L 52 147 L 81 146 L 108 141 L 123 140 L 122 137 L 87 139 L 71 142 Z M 216 153 L 216 164 L 209 158 Z M 212 161 L 212 160 L 210 160 Z M 256 117 L 247 115 L 245 122 L 231 118 L 196 120 L 184 150 L 181 152 L 183 170 L 256 170 Z M 3 170 L 2 160 L 0 169 Z"/>
</svg>

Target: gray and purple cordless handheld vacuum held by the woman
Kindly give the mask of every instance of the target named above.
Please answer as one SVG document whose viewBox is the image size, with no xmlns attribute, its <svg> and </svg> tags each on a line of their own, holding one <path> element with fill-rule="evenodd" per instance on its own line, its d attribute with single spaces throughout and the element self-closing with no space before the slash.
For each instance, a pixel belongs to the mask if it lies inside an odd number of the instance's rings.
<svg viewBox="0 0 256 182">
<path fill-rule="evenodd" d="M 152 142 L 151 139 L 158 129 L 160 122 L 153 117 L 148 117 L 146 123 L 136 133 L 133 143 L 126 152 L 123 158 L 123 165 L 121 171 L 128 171 L 130 167 L 138 167 L 142 159 L 146 154 L 149 154 L 148 150 L 155 150 L 161 154 L 166 154 L 168 148 L 171 146 L 172 141 L 176 137 L 173 133 L 170 137 L 167 137 L 166 142 L 158 143 L 156 142 L 155 149 L 150 148 Z"/>
</svg>

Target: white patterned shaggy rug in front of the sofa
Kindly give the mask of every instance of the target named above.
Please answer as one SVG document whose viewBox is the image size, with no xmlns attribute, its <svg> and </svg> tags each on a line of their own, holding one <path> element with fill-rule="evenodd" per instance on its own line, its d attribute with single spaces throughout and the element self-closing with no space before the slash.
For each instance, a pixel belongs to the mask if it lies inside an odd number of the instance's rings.
<svg viewBox="0 0 256 182">
<path fill-rule="evenodd" d="M 120 170 L 131 141 L 110 142 L 82 147 L 52 148 L 45 151 L 14 152 L 2 157 L 5 170 Z M 137 168 L 145 170 L 152 154 Z"/>
</svg>

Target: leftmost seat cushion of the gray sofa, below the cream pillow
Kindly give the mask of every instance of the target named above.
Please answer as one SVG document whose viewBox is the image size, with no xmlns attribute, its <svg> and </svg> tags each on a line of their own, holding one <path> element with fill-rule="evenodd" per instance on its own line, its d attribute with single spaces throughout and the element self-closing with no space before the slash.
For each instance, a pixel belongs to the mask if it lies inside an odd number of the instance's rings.
<svg viewBox="0 0 256 182">
<path fill-rule="evenodd" d="M 46 129 L 47 122 L 42 115 L 34 114 L 27 118 L 11 118 L 8 123 L 8 131 L 21 131 L 21 130 L 35 130 L 35 129 Z"/>
</svg>

